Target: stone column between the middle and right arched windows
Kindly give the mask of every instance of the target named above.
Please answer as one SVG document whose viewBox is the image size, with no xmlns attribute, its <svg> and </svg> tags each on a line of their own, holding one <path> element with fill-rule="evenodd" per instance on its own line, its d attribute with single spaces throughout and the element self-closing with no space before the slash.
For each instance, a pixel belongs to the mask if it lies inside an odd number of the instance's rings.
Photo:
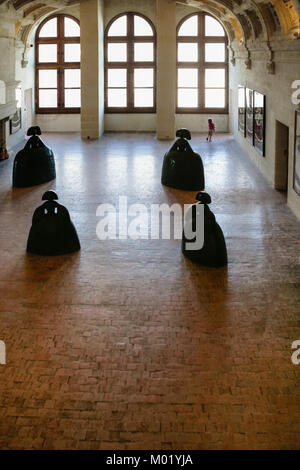
<svg viewBox="0 0 300 470">
<path fill-rule="evenodd" d="M 157 11 L 157 138 L 175 137 L 176 2 L 156 0 Z"/>
</svg>

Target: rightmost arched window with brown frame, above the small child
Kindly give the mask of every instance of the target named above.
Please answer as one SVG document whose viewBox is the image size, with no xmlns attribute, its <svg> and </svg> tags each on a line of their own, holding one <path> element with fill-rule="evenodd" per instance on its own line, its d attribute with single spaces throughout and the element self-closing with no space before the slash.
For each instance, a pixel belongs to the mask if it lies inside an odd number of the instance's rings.
<svg viewBox="0 0 300 470">
<path fill-rule="evenodd" d="M 177 30 L 177 112 L 228 112 L 227 36 L 206 13 L 184 18 Z"/>
</svg>

